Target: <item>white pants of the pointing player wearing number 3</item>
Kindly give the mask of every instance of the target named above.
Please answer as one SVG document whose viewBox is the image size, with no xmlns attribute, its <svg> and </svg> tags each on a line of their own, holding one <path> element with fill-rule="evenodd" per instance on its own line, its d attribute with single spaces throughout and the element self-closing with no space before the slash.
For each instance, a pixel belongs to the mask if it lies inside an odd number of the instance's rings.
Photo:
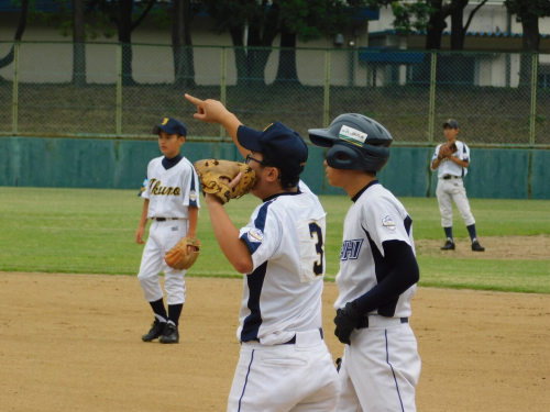
<svg viewBox="0 0 550 412">
<path fill-rule="evenodd" d="M 296 343 L 243 343 L 228 412 L 328 412 L 338 402 L 338 372 L 319 330 Z"/>
</svg>

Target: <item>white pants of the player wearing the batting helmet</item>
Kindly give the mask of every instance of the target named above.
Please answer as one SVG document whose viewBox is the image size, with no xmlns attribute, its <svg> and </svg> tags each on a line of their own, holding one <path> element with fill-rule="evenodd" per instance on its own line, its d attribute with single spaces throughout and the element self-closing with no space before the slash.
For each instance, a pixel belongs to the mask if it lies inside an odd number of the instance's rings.
<svg viewBox="0 0 550 412">
<path fill-rule="evenodd" d="M 421 361 L 408 323 L 369 316 L 354 331 L 340 367 L 338 412 L 414 412 Z"/>
</svg>

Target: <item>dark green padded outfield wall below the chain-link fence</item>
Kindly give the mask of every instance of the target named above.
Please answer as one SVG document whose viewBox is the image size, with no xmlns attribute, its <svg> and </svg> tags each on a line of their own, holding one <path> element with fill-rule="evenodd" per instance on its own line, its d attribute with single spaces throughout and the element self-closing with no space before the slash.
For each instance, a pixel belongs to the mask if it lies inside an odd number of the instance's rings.
<svg viewBox="0 0 550 412">
<path fill-rule="evenodd" d="M 187 142 L 190 162 L 217 157 L 240 159 L 233 144 Z M 435 197 L 433 149 L 393 147 L 378 178 L 400 197 Z M 0 138 L 0 186 L 138 189 L 148 162 L 161 156 L 156 142 L 91 138 Z M 309 146 L 304 181 L 319 194 L 343 194 L 328 185 L 323 149 Z M 472 149 L 464 179 L 470 198 L 550 199 L 550 151 Z"/>
</svg>

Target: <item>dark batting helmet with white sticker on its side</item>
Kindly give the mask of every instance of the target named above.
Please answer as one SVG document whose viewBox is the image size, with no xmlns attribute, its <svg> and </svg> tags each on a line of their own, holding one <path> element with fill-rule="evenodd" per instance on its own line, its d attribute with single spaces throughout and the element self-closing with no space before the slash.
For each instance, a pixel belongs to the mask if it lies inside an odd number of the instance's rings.
<svg viewBox="0 0 550 412">
<path fill-rule="evenodd" d="M 341 114 L 328 129 L 310 129 L 316 146 L 330 147 L 327 164 L 334 169 L 381 171 L 393 138 L 382 124 L 362 114 Z"/>
</svg>

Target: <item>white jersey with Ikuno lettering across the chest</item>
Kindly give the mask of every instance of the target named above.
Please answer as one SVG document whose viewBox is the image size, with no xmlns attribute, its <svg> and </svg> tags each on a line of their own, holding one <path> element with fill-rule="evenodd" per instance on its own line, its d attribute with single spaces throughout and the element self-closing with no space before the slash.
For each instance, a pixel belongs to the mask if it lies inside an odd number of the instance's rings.
<svg viewBox="0 0 550 412">
<path fill-rule="evenodd" d="M 176 166 L 166 170 L 163 158 L 154 158 L 147 166 L 148 183 L 142 193 L 142 198 L 150 200 L 147 219 L 189 219 L 189 207 L 200 208 L 195 168 L 183 157 Z"/>
</svg>

